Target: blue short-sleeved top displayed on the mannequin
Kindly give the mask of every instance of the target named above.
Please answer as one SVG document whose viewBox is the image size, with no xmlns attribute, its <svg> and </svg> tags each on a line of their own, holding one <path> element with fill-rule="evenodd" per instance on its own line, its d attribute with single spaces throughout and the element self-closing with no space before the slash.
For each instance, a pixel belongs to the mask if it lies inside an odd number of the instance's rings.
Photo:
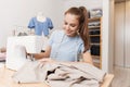
<svg viewBox="0 0 130 87">
<path fill-rule="evenodd" d="M 52 21 L 47 17 L 46 22 L 39 22 L 36 17 L 32 17 L 29 21 L 28 28 L 35 28 L 35 34 L 41 36 L 42 33 L 44 36 L 49 35 L 49 28 L 53 28 Z"/>
</svg>

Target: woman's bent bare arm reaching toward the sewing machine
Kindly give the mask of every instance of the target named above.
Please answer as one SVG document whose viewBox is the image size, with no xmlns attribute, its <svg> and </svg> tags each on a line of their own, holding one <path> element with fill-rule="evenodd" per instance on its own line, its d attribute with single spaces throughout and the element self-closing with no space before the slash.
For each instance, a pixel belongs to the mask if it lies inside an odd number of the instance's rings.
<svg viewBox="0 0 130 87">
<path fill-rule="evenodd" d="M 46 48 L 46 52 L 34 54 L 34 57 L 35 57 L 36 60 L 38 60 L 38 59 L 42 59 L 42 58 L 49 58 L 50 53 L 51 53 L 51 47 L 48 46 Z"/>
</svg>

